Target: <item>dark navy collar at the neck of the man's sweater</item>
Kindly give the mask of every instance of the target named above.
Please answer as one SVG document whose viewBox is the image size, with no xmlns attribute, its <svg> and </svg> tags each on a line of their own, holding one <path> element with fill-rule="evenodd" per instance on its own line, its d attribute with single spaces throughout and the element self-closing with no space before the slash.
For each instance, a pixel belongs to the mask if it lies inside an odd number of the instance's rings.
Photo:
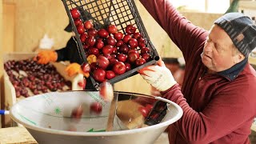
<svg viewBox="0 0 256 144">
<path fill-rule="evenodd" d="M 248 61 L 248 58 L 245 58 L 244 60 L 242 60 L 242 62 L 239 62 L 239 63 L 235 64 L 234 66 L 230 67 L 230 69 L 218 72 L 218 74 L 227 78 L 229 81 L 233 81 L 234 78 L 237 78 L 238 74 L 246 66 L 247 61 Z"/>
</svg>

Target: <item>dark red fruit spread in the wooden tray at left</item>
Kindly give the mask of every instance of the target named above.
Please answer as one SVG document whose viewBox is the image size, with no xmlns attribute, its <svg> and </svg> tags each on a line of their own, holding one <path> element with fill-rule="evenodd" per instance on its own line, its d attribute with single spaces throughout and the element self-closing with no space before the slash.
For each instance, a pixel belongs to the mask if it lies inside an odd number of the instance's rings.
<svg viewBox="0 0 256 144">
<path fill-rule="evenodd" d="M 14 86 L 17 98 L 71 89 L 71 82 L 58 74 L 51 64 L 38 64 L 32 59 L 10 60 L 4 63 L 4 69 Z"/>
</svg>

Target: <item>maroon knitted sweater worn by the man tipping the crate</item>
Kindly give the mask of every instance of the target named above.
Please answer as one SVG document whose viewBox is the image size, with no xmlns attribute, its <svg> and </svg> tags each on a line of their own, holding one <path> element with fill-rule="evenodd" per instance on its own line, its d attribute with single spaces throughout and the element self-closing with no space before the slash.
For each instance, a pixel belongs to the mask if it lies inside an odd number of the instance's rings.
<svg viewBox="0 0 256 144">
<path fill-rule="evenodd" d="M 256 73 L 246 58 L 218 74 L 206 74 L 201 56 L 208 31 L 178 14 L 169 0 L 140 0 L 186 61 L 182 90 L 178 84 L 162 92 L 184 112 L 169 126 L 170 143 L 250 143 L 256 115 Z"/>
</svg>

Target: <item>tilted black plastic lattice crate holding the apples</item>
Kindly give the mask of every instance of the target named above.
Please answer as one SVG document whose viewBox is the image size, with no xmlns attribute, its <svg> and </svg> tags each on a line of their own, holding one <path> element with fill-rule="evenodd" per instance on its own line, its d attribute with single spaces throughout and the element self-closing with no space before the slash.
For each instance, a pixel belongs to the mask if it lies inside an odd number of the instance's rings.
<svg viewBox="0 0 256 144">
<path fill-rule="evenodd" d="M 126 26 L 133 24 L 145 39 L 146 46 L 150 48 L 152 60 L 144 63 L 142 66 L 138 66 L 132 70 L 126 71 L 124 74 L 108 80 L 111 84 L 119 82 L 125 78 L 129 78 L 134 74 L 138 74 L 137 71 L 142 69 L 142 67 L 152 65 L 158 61 L 158 52 L 146 33 L 145 26 L 143 25 L 142 18 L 138 14 L 138 9 L 135 6 L 134 0 L 62 0 L 62 2 L 65 6 L 68 17 L 70 18 L 70 23 L 78 42 L 79 52 L 81 54 L 80 56 L 84 62 L 87 62 L 86 54 L 83 50 L 82 42 L 79 37 L 80 34 L 78 34 L 78 30 L 74 24 L 74 19 L 70 14 L 71 9 L 78 9 L 81 14 L 82 22 L 86 22 L 87 20 L 92 21 L 96 30 L 106 28 L 106 26 L 114 24 L 117 26 L 118 31 L 126 34 Z M 94 80 L 92 74 L 90 74 L 90 79 L 96 90 L 98 90 L 99 83 Z"/>
</svg>

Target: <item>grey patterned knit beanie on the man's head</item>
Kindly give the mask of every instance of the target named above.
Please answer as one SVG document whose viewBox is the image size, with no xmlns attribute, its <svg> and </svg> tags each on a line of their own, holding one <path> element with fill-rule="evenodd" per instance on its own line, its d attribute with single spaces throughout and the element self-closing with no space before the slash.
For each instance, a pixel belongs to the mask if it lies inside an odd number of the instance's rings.
<svg viewBox="0 0 256 144">
<path fill-rule="evenodd" d="M 222 27 L 234 42 L 234 46 L 248 57 L 256 47 L 256 26 L 242 13 L 227 13 L 218 18 L 214 24 Z"/>
</svg>

